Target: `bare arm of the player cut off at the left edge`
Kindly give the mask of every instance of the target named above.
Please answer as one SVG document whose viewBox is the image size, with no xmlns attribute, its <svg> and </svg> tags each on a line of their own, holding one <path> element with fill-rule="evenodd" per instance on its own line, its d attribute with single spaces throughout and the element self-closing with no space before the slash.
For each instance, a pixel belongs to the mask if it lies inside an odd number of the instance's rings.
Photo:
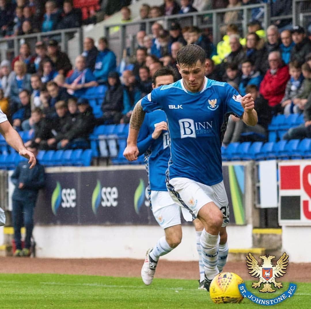
<svg viewBox="0 0 311 309">
<path fill-rule="evenodd" d="M 6 142 L 13 147 L 20 156 L 29 160 L 29 168 L 33 168 L 36 165 L 36 158 L 34 154 L 25 148 L 21 137 L 8 121 L 0 123 L 0 133 L 3 135 Z"/>
</svg>

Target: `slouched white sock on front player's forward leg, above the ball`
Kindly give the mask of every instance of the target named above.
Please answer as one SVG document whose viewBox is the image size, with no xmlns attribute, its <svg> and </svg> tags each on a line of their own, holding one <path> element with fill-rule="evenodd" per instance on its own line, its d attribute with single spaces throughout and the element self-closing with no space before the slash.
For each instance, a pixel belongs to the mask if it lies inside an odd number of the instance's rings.
<svg viewBox="0 0 311 309">
<path fill-rule="evenodd" d="M 202 261 L 207 279 L 212 280 L 218 273 L 218 245 L 220 241 L 219 235 L 211 235 L 202 231 L 200 237 Z"/>
</svg>

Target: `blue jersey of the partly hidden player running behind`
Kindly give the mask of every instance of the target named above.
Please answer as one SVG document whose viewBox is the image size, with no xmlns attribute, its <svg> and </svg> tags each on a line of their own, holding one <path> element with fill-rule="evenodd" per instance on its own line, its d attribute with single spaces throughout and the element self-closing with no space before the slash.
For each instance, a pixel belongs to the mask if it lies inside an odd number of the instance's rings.
<svg viewBox="0 0 311 309">
<path fill-rule="evenodd" d="M 137 147 L 139 155 L 144 154 L 149 190 L 167 191 L 165 172 L 170 158 L 169 134 L 167 131 L 163 131 L 157 139 L 151 137 L 155 130 L 155 124 L 161 121 L 166 122 L 166 115 L 162 110 L 155 110 L 145 115 L 139 130 Z"/>
</svg>

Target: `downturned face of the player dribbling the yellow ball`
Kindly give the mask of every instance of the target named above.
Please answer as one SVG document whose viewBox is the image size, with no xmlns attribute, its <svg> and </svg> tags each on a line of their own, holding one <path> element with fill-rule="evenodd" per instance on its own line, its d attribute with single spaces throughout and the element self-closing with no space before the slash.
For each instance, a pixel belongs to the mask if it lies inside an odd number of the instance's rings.
<svg viewBox="0 0 311 309">
<path fill-rule="evenodd" d="M 206 62 L 201 63 L 200 60 L 192 67 L 183 63 L 177 64 L 179 74 L 183 77 L 183 84 L 188 91 L 198 92 L 203 89 L 206 66 Z"/>
</svg>

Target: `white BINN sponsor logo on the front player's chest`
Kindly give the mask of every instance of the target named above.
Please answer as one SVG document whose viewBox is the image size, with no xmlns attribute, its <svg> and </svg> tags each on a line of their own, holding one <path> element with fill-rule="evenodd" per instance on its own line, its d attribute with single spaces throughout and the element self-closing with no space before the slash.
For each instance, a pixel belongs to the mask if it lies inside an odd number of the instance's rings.
<svg viewBox="0 0 311 309">
<path fill-rule="evenodd" d="M 194 122 L 193 119 L 180 119 L 180 138 L 192 137 L 197 138 L 197 135 L 209 135 L 212 132 L 213 121 Z"/>
</svg>

